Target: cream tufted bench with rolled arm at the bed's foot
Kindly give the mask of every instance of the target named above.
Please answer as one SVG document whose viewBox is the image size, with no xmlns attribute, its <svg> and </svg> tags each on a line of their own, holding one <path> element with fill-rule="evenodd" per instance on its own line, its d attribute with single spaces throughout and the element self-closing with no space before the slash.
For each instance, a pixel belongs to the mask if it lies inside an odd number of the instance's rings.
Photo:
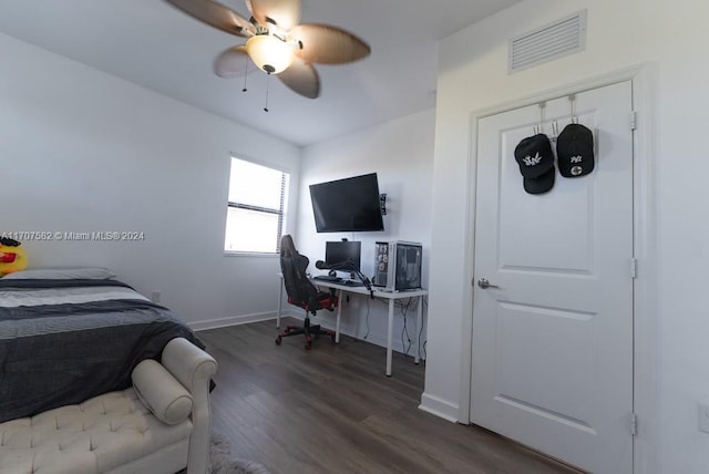
<svg viewBox="0 0 709 474">
<path fill-rule="evenodd" d="M 216 362 L 178 338 L 163 351 L 163 364 L 169 372 L 155 361 L 144 364 L 144 390 L 110 392 L 78 405 L 1 423 L 0 474 L 152 474 L 184 467 L 189 473 L 206 472 L 208 384 Z M 184 404 L 177 406 L 185 416 L 169 419 L 166 410 L 185 398 L 169 393 L 165 389 L 169 383 L 178 384 L 189 396 L 186 412 Z M 146 387 L 150 384 L 160 387 Z"/>
</svg>

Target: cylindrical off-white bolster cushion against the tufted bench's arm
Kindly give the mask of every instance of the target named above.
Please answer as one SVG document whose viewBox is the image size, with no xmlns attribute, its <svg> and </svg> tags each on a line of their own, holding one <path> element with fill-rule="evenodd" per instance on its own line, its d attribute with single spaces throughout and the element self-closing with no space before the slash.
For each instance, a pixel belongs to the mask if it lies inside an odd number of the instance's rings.
<svg viewBox="0 0 709 474">
<path fill-rule="evenodd" d="M 157 361 L 138 363 L 131 378 L 138 399 L 163 423 L 182 423 L 192 413 L 192 395 Z"/>
</svg>

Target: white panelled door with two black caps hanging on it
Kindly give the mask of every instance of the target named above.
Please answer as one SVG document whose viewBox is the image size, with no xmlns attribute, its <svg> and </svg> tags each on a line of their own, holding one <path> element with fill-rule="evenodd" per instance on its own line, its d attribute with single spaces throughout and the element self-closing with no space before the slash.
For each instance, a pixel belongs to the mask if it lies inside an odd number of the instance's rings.
<svg viewBox="0 0 709 474">
<path fill-rule="evenodd" d="M 479 122 L 471 422 L 594 473 L 633 472 L 631 104 L 629 81 L 576 94 L 595 169 L 541 195 L 514 159 L 540 106 Z"/>
</svg>

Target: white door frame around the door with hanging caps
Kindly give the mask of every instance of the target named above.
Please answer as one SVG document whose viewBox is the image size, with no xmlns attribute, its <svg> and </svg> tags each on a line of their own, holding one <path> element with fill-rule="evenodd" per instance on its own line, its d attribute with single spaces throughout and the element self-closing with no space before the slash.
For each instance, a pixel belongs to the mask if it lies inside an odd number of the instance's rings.
<svg viewBox="0 0 709 474">
<path fill-rule="evenodd" d="M 473 111 L 469 122 L 469 169 L 467 217 L 465 229 L 466 246 L 465 286 L 461 341 L 461 404 L 459 420 L 470 424 L 470 402 L 472 396 L 472 331 L 473 331 L 473 281 L 475 255 L 475 200 L 477 178 L 477 124 L 483 117 L 511 110 L 551 101 L 559 96 L 598 89 L 618 82 L 630 81 L 633 87 L 633 110 L 636 112 L 636 130 L 633 136 L 633 247 L 637 259 L 637 278 L 633 285 L 633 406 L 637 416 L 637 434 L 634 440 L 634 472 L 659 472 L 659 352 L 657 350 L 657 268 L 658 268 L 658 217 L 656 169 L 656 102 L 657 64 L 644 63 L 615 71 L 609 74 L 583 80 L 552 90 L 535 93 L 520 100 L 505 102 L 492 107 Z M 628 117 L 628 123 L 630 117 Z M 629 126 L 629 125 L 628 125 Z M 628 268 L 628 271 L 630 269 Z M 628 420 L 628 430 L 630 429 Z"/>
</svg>

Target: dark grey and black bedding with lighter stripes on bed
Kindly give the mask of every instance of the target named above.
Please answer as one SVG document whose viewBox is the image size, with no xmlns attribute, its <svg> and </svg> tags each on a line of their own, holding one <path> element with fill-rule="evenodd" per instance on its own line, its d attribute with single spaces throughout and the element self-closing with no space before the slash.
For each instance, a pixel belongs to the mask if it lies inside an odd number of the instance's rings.
<svg viewBox="0 0 709 474">
<path fill-rule="evenodd" d="M 116 280 L 0 279 L 0 422 L 126 389 L 133 368 L 177 337 L 204 349 Z"/>
</svg>

